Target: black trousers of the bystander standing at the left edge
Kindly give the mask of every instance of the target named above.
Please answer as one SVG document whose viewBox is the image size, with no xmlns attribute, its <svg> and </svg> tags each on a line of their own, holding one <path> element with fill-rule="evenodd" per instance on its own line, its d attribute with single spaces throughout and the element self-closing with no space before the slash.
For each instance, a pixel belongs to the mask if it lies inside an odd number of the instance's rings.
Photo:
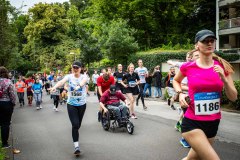
<svg viewBox="0 0 240 160">
<path fill-rule="evenodd" d="M 8 144 L 13 105 L 10 101 L 0 101 L 0 126 L 2 145 Z"/>
</svg>

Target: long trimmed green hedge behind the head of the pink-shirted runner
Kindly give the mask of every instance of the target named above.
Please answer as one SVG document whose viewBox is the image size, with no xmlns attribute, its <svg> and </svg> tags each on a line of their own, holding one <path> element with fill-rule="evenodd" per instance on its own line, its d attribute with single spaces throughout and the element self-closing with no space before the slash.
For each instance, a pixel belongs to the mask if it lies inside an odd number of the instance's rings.
<svg viewBox="0 0 240 160">
<path fill-rule="evenodd" d="M 185 60 L 186 53 L 188 51 L 156 51 L 156 52 L 139 52 L 136 54 L 132 54 L 128 58 L 128 64 L 133 63 L 137 66 L 137 60 L 142 59 L 144 66 L 148 69 L 153 69 L 155 66 L 160 65 L 161 63 L 167 62 L 169 59 L 178 59 Z M 223 53 L 220 51 L 215 52 L 218 56 L 227 60 L 228 62 L 235 61 L 240 59 L 240 55 L 236 53 Z"/>
</svg>

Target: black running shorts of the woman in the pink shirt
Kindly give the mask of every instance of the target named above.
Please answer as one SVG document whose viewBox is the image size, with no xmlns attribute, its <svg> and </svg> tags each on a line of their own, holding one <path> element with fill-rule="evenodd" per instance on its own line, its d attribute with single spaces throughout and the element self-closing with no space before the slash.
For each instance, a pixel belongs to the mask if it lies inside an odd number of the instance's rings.
<svg viewBox="0 0 240 160">
<path fill-rule="evenodd" d="M 182 120 L 182 133 L 192 131 L 194 129 L 201 129 L 207 138 L 213 138 L 217 135 L 220 120 L 214 121 L 196 121 L 184 117 Z"/>
</svg>

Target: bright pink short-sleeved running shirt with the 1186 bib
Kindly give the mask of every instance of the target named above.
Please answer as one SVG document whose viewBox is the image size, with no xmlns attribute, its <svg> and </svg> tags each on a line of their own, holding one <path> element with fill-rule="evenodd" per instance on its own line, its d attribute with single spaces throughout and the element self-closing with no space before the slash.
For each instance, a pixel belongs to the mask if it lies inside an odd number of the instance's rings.
<svg viewBox="0 0 240 160">
<path fill-rule="evenodd" d="M 214 65 L 223 68 L 223 65 L 216 60 Z M 213 67 L 204 69 L 200 68 L 196 62 L 187 62 L 181 66 L 180 71 L 188 78 L 191 99 L 184 116 L 198 121 L 221 119 L 220 101 L 223 82 Z"/>
</svg>

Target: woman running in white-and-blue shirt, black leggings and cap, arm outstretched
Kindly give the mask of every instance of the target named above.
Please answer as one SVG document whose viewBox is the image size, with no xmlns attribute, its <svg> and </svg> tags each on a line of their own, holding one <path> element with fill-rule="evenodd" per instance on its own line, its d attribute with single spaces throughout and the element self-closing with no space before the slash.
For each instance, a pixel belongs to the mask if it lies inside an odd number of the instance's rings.
<svg viewBox="0 0 240 160">
<path fill-rule="evenodd" d="M 66 75 L 53 88 L 50 88 L 50 91 L 55 92 L 58 87 L 64 85 L 66 82 L 68 82 L 67 110 L 72 123 L 72 138 L 75 147 L 74 154 L 79 156 L 80 147 L 78 142 L 78 130 L 81 127 L 82 119 L 86 110 L 87 83 L 87 77 L 83 74 L 83 65 L 81 62 L 74 62 L 72 64 L 72 74 Z"/>
</svg>

